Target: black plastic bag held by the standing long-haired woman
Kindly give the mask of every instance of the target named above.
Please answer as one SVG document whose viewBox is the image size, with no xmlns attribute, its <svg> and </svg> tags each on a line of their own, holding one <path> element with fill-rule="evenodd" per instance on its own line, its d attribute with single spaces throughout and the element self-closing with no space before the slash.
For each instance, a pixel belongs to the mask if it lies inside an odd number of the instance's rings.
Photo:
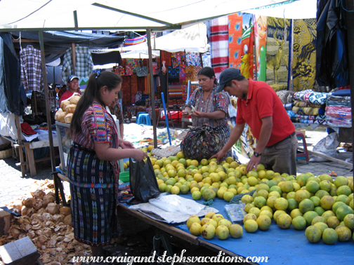
<svg viewBox="0 0 354 265">
<path fill-rule="evenodd" d="M 129 158 L 129 174 L 131 193 L 136 200 L 147 203 L 150 198 L 159 196 L 159 185 L 150 158 L 147 158 L 146 163 L 133 162 Z"/>
</svg>

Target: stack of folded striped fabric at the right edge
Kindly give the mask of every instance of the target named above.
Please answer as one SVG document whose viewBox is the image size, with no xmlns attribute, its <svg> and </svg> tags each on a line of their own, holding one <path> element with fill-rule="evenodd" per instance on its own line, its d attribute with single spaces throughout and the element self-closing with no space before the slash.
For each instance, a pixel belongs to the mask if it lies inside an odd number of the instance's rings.
<svg viewBox="0 0 354 265">
<path fill-rule="evenodd" d="M 350 89 L 338 90 L 327 99 L 327 125 L 333 127 L 351 127 Z"/>
</svg>

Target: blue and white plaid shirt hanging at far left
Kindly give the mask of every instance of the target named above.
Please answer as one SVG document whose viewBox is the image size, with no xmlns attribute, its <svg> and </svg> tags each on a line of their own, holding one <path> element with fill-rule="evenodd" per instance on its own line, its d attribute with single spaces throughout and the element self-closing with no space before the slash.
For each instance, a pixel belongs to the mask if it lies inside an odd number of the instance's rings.
<svg viewBox="0 0 354 265">
<path fill-rule="evenodd" d="M 41 72 L 41 51 L 32 45 L 20 51 L 21 81 L 25 90 L 41 91 L 44 88 Z"/>
</svg>

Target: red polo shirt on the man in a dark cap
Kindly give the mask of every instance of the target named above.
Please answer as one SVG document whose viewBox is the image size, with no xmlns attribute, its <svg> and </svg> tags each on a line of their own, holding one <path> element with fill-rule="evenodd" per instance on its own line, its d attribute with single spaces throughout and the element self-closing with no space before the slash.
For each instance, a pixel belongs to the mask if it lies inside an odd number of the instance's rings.
<svg viewBox="0 0 354 265">
<path fill-rule="evenodd" d="M 261 118 L 268 116 L 273 116 L 273 130 L 266 145 L 270 147 L 291 135 L 295 127 L 273 88 L 263 81 L 249 79 L 247 99 L 237 99 L 236 123 L 247 123 L 254 137 L 259 140 Z"/>
</svg>

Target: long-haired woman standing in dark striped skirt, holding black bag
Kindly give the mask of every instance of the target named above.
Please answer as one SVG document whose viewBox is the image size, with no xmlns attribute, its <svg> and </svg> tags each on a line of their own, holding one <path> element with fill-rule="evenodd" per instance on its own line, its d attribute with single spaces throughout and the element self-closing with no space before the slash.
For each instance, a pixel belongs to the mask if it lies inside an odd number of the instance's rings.
<svg viewBox="0 0 354 265">
<path fill-rule="evenodd" d="M 93 257 L 104 257 L 103 246 L 120 234 L 117 161 L 147 157 L 131 142 L 119 139 L 117 126 L 105 109 L 117 101 L 121 88 L 122 77 L 113 72 L 91 74 L 70 123 L 73 144 L 67 157 L 67 178 L 74 236 L 91 246 Z"/>
</svg>

